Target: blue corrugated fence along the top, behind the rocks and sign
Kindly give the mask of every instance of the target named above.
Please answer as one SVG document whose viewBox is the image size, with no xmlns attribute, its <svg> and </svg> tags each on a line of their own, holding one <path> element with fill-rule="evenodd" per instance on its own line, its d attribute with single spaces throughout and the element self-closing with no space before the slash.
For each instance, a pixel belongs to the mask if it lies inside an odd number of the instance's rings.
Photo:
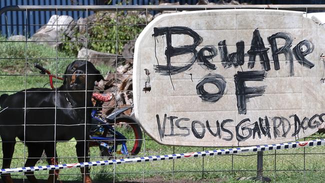
<svg viewBox="0 0 325 183">
<path fill-rule="evenodd" d="M 198 0 L 161 0 L 179 2 L 180 4 L 196 4 Z M 219 0 L 209 0 L 217 2 Z M 229 0 L 228 0 L 229 1 Z M 325 0 L 237 0 L 251 4 L 324 4 Z M 158 4 L 159 0 L 0 0 L 0 7 L 9 5 L 100 5 L 100 4 L 147 5 Z M 93 12 L 88 12 L 88 15 Z M 0 31 L 4 36 L 25 35 L 29 37 L 42 24 L 46 24 L 55 11 L 8 11 L 0 16 Z M 85 11 L 59 11 L 58 15 L 66 14 L 74 19 L 86 17 Z"/>
</svg>

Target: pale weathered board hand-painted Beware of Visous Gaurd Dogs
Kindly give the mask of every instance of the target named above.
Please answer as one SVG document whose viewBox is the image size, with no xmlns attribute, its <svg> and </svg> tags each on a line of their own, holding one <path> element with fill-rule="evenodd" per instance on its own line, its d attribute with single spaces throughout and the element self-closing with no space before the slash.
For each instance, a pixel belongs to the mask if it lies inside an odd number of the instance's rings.
<svg viewBox="0 0 325 183">
<path fill-rule="evenodd" d="M 325 27 L 302 12 L 163 14 L 136 40 L 135 116 L 157 142 L 296 140 L 325 120 Z"/>
</svg>

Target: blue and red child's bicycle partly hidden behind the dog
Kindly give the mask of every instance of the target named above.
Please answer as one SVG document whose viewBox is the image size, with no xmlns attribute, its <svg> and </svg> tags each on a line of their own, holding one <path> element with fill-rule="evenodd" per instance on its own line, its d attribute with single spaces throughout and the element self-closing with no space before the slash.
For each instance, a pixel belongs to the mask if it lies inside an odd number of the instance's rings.
<svg viewBox="0 0 325 183">
<path fill-rule="evenodd" d="M 40 74 L 49 75 L 51 88 L 54 88 L 53 77 L 63 80 L 62 77 L 52 75 L 39 64 L 34 64 L 34 67 L 40 70 Z M 109 101 L 112 95 L 93 93 L 92 98 L 95 100 L 95 104 L 91 111 L 92 127 L 90 128 L 89 146 L 99 146 L 101 156 L 114 157 L 118 156 L 117 154 L 133 156 L 139 153 L 142 145 L 142 130 L 134 118 L 122 114 L 132 107 L 115 109 L 104 118 L 100 115 L 101 105 L 103 102 Z"/>
</svg>

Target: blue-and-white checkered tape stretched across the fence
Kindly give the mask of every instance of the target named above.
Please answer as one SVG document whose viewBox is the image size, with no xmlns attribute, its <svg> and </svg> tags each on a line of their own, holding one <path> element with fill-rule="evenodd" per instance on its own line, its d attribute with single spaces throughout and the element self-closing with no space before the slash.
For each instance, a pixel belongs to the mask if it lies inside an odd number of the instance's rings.
<svg viewBox="0 0 325 183">
<path fill-rule="evenodd" d="M 12 172 L 65 169 L 65 168 L 75 168 L 75 167 L 104 166 L 104 165 L 123 164 L 123 163 L 132 163 L 132 162 L 180 159 L 180 158 L 185 158 L 185 157 L 202 157 L 202 156 L 211 156 L 211 155 L 238 154 L 238 153 L 242 153 L 242 152 L 257 152 L 257 151 L 288 149 L 288 148 L 319 146 L 319 145 L 325 145 L 325 139 L 277 143 L 277 144 L 270 144 L 270 145 L 256 145 L 256 146 L 250 146 L 250 147 L 238 147 L 238 148 L 229 148 L 229 149 L 220 149 L 220 150 L 207 150 L 207 151 L 201 151 L 201 152 L 189 152 L 189 153 L 180 153 L 180 154 L 135 157 L 135 158 L 127 158 L 127 159 L 113 159 L 113 160 L 103 160 L 103 161 L 80 162 L 80 163 L 72 163 L 72 164 L 57 164 L 57 165 L 47 165 L 47 166 L 5 168 L 5 169 L 0 170 L 0 174 L 12 173 Z"/>
</svg>

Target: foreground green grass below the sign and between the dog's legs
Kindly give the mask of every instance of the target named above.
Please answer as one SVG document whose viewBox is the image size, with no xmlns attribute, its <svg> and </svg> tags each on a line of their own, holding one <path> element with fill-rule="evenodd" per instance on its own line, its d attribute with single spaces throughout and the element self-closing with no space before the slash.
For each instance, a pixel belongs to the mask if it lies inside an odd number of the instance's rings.
<svg viewBox="0 0 325 183">
<path fill-rule="evenodd" d="M 324 135 L 317 133 L 314 136 L 324 137 Z M 77 162 L 74 145 L 75 142 L 73 140 L 57 143 L 58 156 L 60 157 L 59 163 Z M 216 149 L 220 148 L 223 147 Z M 142 150 L 138 155 L 162 155 L 210 149 L 214 148 L 160 145 L 146 137 L 145 145 L 142 145 Z M 325 152 L 324 150 L 325 147 L 316 146 L 265 151 L 263 157 L 264 176 L 270 177 L 276 182 L 323 182 L 325 179 L 325 161 L 322 154 Z M 304 151 L 305 155 L 303 155 Z M 90 152 L 91 161 L 106 160 L 104 157 L 98 157 L 98 147 L 91 147 Z M 23 166 L 23 157 L 26 155 L 24 145 L 21 142 L 17 142 L 13 155 L 17 159 L 12 160 L 11 166 Z M 44 160 L 40 160 L 37 163 L 37 165 L 44 164 L 46 164 Z M 303 171 L 304 164 L 306 171 Z M 274 171 L 275 165 L 276 172 Z M 45 179 L 47 171 L 36 171 L 35 174 L 37 174 L 38 178 Z M 251 180 L 237 181 L 236 178 L 256 175 L 256 153 L 91 167 L 91 177 L 102 181 L 112 180 L 113 176 L 115 176 L 115 181 L 124 181 L 138 180 L 142 177 L 149 178 L 157 175 L 163 177 L 166 181 L 174 178 L 175 180 L 189 179 L 204 182 L 215 182 L 215 180 L 220 182 L 253 182 Z M 80 180 L 79 169 L 60 170 L 60 179 Z"/>
</svg>

